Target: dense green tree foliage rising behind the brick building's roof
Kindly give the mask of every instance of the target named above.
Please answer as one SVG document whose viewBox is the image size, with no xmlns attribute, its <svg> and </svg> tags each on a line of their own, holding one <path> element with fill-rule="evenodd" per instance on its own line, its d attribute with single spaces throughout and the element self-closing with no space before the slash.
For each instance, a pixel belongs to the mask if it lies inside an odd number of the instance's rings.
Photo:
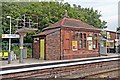
<svg viewBox="0 0 120 80">
<path fill-rule="evenodd" d="M 6 19 L 7 15 L 17 18 L 22 14 L 35 14 L 39 17 L 38 31 L 29 33 L 25 37 L 24 42 L 32 42 L 31 35 L 37 34 L 42 31 L 43 28 L 48 27 L 64 17 L 64 11 L 68 11 L 70 18 L 80 19 L 90 25 L 97 28 L 106 28 L 106 22 L 101 21 L 101 14 L 98 10 L 93 8 L 82 8 L 80 5 L 70 6 L 69 3 L 62 2 L 5 2 L 2 5 L 2 25 L 3 32 L 9 33 L 9 19 Z M 12 33 L 15 32 L 14 27 L 16 23 L 12 21 Z"/>
</svg>

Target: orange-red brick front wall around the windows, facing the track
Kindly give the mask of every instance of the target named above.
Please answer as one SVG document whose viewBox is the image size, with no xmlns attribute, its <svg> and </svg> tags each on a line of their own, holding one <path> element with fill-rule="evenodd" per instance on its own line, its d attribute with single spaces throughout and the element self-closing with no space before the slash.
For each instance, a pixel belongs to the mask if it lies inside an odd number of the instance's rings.
<svg viewBox="0 0 120 80">
<path fill-rule="evenodd" d="M 63 38 L 62 41 L 64 41 L 63 47 L 61 47 L 64 51 L 64 55 L 63 55 L 63 59 L 75 59 L 75 58 L 87 58 L 87 57 L 97 57 L 99 56 L 99 51 L 97 49 L 93 49 L 93 50 L 88 50 L 88 45 L 86 45 L 86 49 L 78 49 L 77 51 L 73 51 L 72 50 L 72 40 L 74 40 L 73 35 L 75 34 L 75 30 L 69 30 L 69 29 L 62 29 L 61 31 Z M 86 33 L 86 35 L 88 35 L 89 33 L 93 32 L 86 32 L 86 31 L 81 31 Z M 96 33 L 98 35 L 98 33 Z M 69 42 L 68 42 L 69 40 Z M 69 45 L 68 45 L 69 43 Z M 79 45 L 78 45 L 79 46 Z M 99 47 L 99 46 L 97 46 Z"/>
</svg>

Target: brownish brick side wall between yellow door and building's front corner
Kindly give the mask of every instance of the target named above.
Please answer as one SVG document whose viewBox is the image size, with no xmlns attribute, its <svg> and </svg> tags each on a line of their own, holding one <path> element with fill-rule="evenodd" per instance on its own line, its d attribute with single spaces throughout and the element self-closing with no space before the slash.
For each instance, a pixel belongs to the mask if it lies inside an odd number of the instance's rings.
<svg viewBox="0 0 120 80">
<path fill-rule="evenodd" d="M 60 60 L 60 30 L 46 36 L 46 60 Z"/>
</svg>

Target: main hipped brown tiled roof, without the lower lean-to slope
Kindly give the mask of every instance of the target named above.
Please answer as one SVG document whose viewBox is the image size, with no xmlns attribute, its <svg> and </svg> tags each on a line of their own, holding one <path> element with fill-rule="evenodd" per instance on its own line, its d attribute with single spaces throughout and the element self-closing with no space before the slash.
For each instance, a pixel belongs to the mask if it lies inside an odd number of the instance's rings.
<svg viewBox="0 0 120 80">
<path fill-rule="evenodd" d="M 85 29 L 93 29 L 93 30 L 100 30 L 95 28 L 92 25 L 89 25 L 81 20 L 74 19 L 74 18 L 66 18 L 64 17 L 60 21 L 50 25 L 49 27 L 44 28 L 43 30 L 57 28 L 57 27 L 73 27 L 73 28 L 85 28 Z"/>
</svg>

